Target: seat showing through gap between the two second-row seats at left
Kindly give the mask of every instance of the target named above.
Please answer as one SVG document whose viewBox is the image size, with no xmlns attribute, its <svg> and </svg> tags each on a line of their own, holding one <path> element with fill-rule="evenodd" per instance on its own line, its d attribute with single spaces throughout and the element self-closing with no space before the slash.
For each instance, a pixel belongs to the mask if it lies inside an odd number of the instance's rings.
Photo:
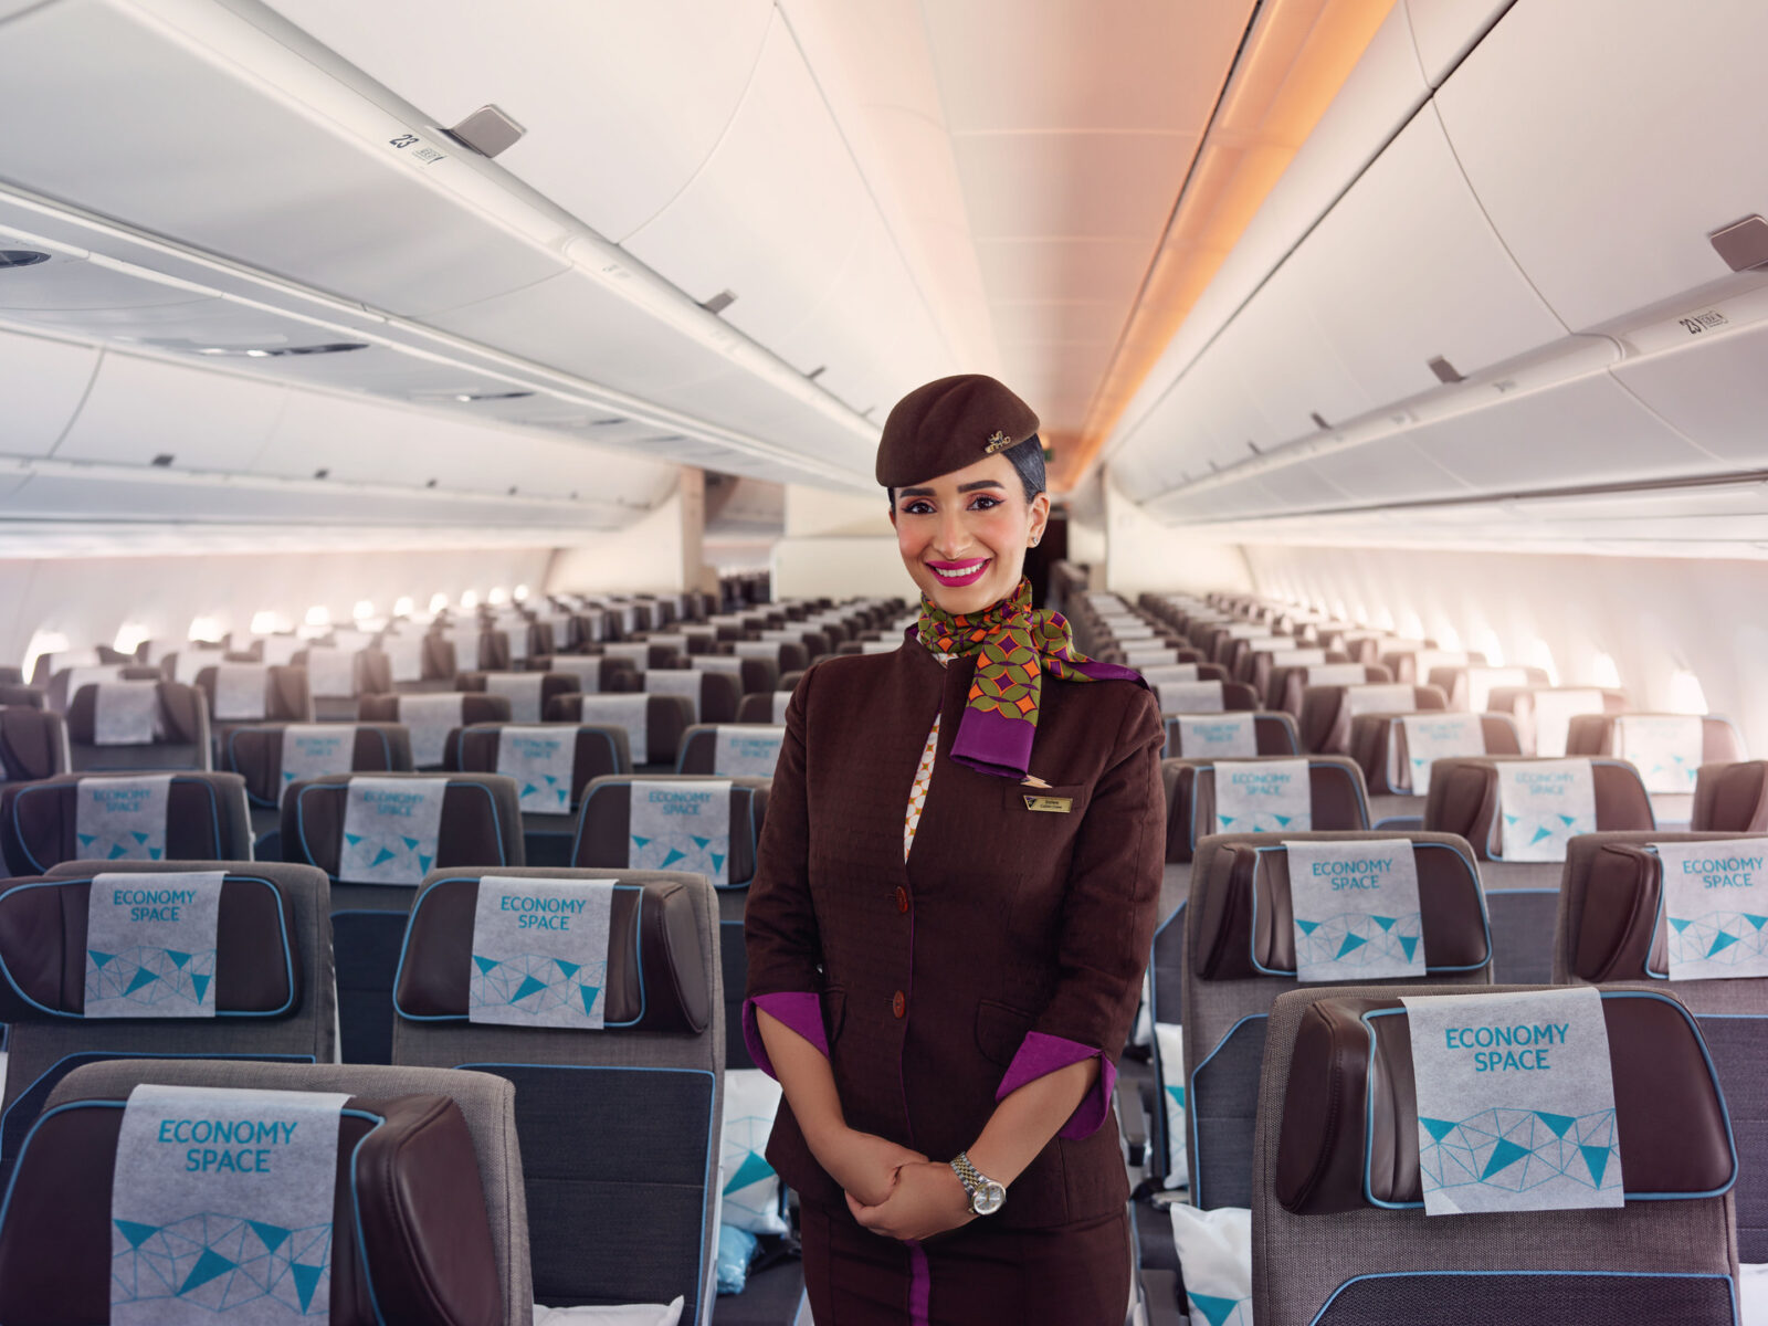
<svg viewBox="0 0 1768 1326">
<path fill-rule="evenodd" d="M 481 773 L 322 774 L 288 789 L 283 854 L 332 882 L 347 1063 L 387 1063 L 400 935 L 424 875 L 527 863 L 516 792 L 513 778 Z"/>
</svg>

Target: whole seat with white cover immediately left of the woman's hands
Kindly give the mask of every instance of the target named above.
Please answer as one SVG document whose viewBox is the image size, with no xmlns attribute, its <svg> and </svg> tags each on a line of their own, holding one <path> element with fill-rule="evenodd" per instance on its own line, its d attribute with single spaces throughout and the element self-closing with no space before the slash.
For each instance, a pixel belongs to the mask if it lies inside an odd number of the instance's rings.
<svg viewBox="0 0 1768 1326">
<path fill-rule="evenodd" d="M 522 944 L 536 941 L 481 925 L 493 880 L 516 898 L 523 880 L 605 884 L 601 962 L 587 946 L 582 964 L 530 958 Z M 716 935 L 713 891 L 684 873 L 437 870 L 412 903 L 392 1057 L 514 1086 L 537 1303 L 681 1296 L 684 1322 L 711 1315 L 725 1153 Z"/>
</svg>

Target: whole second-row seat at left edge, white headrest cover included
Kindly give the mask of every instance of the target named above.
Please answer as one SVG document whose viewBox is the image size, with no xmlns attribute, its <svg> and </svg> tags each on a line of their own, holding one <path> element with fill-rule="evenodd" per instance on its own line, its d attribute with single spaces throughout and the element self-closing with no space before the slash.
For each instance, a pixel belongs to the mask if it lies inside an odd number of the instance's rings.
<svg viewBox="0 0 1768 1326">
<path fill-rule="evenodd" d="M 152 911 L 159 911 L 157 900 L 194 888 L 196 873 L 219 884 L 217 896 L 210 895 L 212 948 L 156 946 L 164 937 L 154 923 L 131 923 L 124 909 L 136 912 L 140 896 L 156 900 Z M 94 889 L 117 898 L 101 930 L 113 955 L 88 956 L 88 926 L 104 919 Z M 11 1167 L 55 1084 L 85 1063 L 331 1063 L 336 1004 L 325 912 L 324 873 L 283 863 L 71 861 L 11 880 L 0 893 L 0 1020 L 7 1024 L 0 1163 Z"/>
</svg>

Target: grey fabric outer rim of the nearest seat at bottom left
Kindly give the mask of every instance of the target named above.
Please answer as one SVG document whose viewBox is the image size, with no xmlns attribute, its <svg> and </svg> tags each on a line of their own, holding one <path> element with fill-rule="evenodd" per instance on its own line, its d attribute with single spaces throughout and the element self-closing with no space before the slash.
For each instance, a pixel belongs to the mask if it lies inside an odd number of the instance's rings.
<svg viewBox="0 0 1768 1326">
<path fill-rule="evenodd" d="M 127 1098 L 143 1082 L 180 1087 L 255 1091 L 338 1091 L 350 1096 L 447 1096 L 467 1121 L 479 1188 L 484 1193 L 504 1289 L 504 1326 L 534 1321 L 534 1278 L 529 1271 L 529 1206 L 522 1186 L 522 1151 L 514 1128 L 514 1089 L 490 1073 L 446 1073 L 433 1068 L 382 1064 L 278 1064 L 182 1059 L 113 1061 L 71 1073 L 50 1098 L 51 1109 L 74 1100 Z"/>
</svg>

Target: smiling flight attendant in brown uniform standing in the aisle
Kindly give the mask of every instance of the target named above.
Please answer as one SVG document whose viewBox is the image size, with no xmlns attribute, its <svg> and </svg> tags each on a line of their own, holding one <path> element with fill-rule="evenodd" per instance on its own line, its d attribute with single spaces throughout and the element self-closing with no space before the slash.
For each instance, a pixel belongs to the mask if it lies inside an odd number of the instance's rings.
<svg viewBox="0 0 1768 1326">
<path fill-rule="evenodd" d="M 1031 608 L 1038 417 L 988 377 L 891 410 L 921 619 L 797 682 L 746 912 L 817 1326 L 1121 1326 L 1112 1114 L 1160 893 L 1158 704 Z"/>
</svg>

